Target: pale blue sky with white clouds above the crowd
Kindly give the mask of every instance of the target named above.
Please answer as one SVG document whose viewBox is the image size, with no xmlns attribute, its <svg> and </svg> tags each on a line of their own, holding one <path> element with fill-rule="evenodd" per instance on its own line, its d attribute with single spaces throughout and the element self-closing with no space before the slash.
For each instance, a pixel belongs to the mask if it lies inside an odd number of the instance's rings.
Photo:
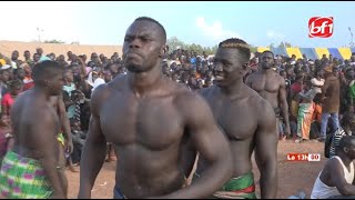
<svg viewBox="0 0 355 200">
<path fill-rule="evenodd" d="M 81 44 L 122 44 L 141 16 L 160 21 L 168 38 L 215 46 L 230 37 L 264 47 L 345 47 L 355 33 L 355 2 L 1 2 L 0 40 L 58 39 Z M 331 38 L 308 38 L 308 19 L 334 17 Z"/>
</svg>

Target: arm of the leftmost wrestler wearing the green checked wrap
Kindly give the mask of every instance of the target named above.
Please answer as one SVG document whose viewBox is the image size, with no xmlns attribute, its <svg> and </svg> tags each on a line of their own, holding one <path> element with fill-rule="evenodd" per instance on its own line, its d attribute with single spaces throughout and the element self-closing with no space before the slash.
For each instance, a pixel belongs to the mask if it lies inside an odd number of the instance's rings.
<svg viewBox="0 0 355 200">
<path fill-rule="evenodd" d="M 37 159 L 44 169 L 45 176 L 54 190 L 54 196 L 57 198 L 64 198 L 64 188 L 62 188 L 61 179 L 57 171 L 59 162 L 55 152 L 59 151 L 59 147 L 57 141 L 57 124 L 53 120 L 53 114 L 48 111 L 48 108 L 43 108 L 37 111 L 37 116 L 33 116 L 33 119 L 38 119 L 36 117 L 41 117 L 41 122 L 38 123 L 38 121 L 33 120 L 32 124 L 36 126 L 30 126 L 31 130 L 29 131 L 32 136 L 28 136 L 33 139 L 28 143 L 37 149 Z"/>
</svg>

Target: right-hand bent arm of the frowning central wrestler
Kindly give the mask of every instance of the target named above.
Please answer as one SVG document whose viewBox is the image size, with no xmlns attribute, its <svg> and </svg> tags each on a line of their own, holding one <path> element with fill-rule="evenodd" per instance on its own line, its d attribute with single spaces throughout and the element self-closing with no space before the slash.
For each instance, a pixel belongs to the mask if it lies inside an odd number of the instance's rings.
<svg viewBox="0 0 355 200">
<path fill-rule="evenodd" d="M 206 198 L 232 177 L 232 154 L 229 142 L 217 128 L 207 103 L 195 94 L 185 96 L 183 99 L 181 99 L 181 106 L 184 104 L 184 107 L 179 108 L 183 108 L 186 128 L 191 132 L 193 144 L 200 157 L 209 162 L 209 167 L 191 186 L 164 198 Z M 187 106 L 186 102 L 189 102 Z"/>
</svg>

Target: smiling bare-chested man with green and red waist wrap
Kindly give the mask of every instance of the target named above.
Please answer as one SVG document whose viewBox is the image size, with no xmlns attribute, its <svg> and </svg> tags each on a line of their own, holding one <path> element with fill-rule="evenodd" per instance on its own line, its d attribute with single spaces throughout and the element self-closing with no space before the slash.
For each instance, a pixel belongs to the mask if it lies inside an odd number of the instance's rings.
<svg viewBox="0 0 355 200">
<path fill-rule="evenodd" d="M 232 38 L 221 42 L 214 57 L 216 84 L 201 92 L 229 138 L 234 163 L 233 179 L 214 193 L 215 198 L 256 198 L 251 160 L 254 150 L 261 171 L 261 198 L 276 198 L 276 118 L 272 106 L 243 83 L 250 57 L 245 41 Z M 206 166 L 200 156 L 193 181 Z"/>
</svg>

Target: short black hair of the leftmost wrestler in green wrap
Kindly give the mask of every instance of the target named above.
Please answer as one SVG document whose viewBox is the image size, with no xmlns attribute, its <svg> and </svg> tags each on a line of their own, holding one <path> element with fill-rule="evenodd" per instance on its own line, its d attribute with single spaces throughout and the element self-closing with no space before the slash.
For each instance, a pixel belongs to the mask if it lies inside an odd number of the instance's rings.
<svg viewBox="0 0 355 200">
<path fill-rule="evenodd" d="M 37 63 L 32 70 L 32 78 L 36 84 L 42 84 L 44 79 L 51 79 L 64 68 L 57 61 L 45 60 Z"/>
</svg>

